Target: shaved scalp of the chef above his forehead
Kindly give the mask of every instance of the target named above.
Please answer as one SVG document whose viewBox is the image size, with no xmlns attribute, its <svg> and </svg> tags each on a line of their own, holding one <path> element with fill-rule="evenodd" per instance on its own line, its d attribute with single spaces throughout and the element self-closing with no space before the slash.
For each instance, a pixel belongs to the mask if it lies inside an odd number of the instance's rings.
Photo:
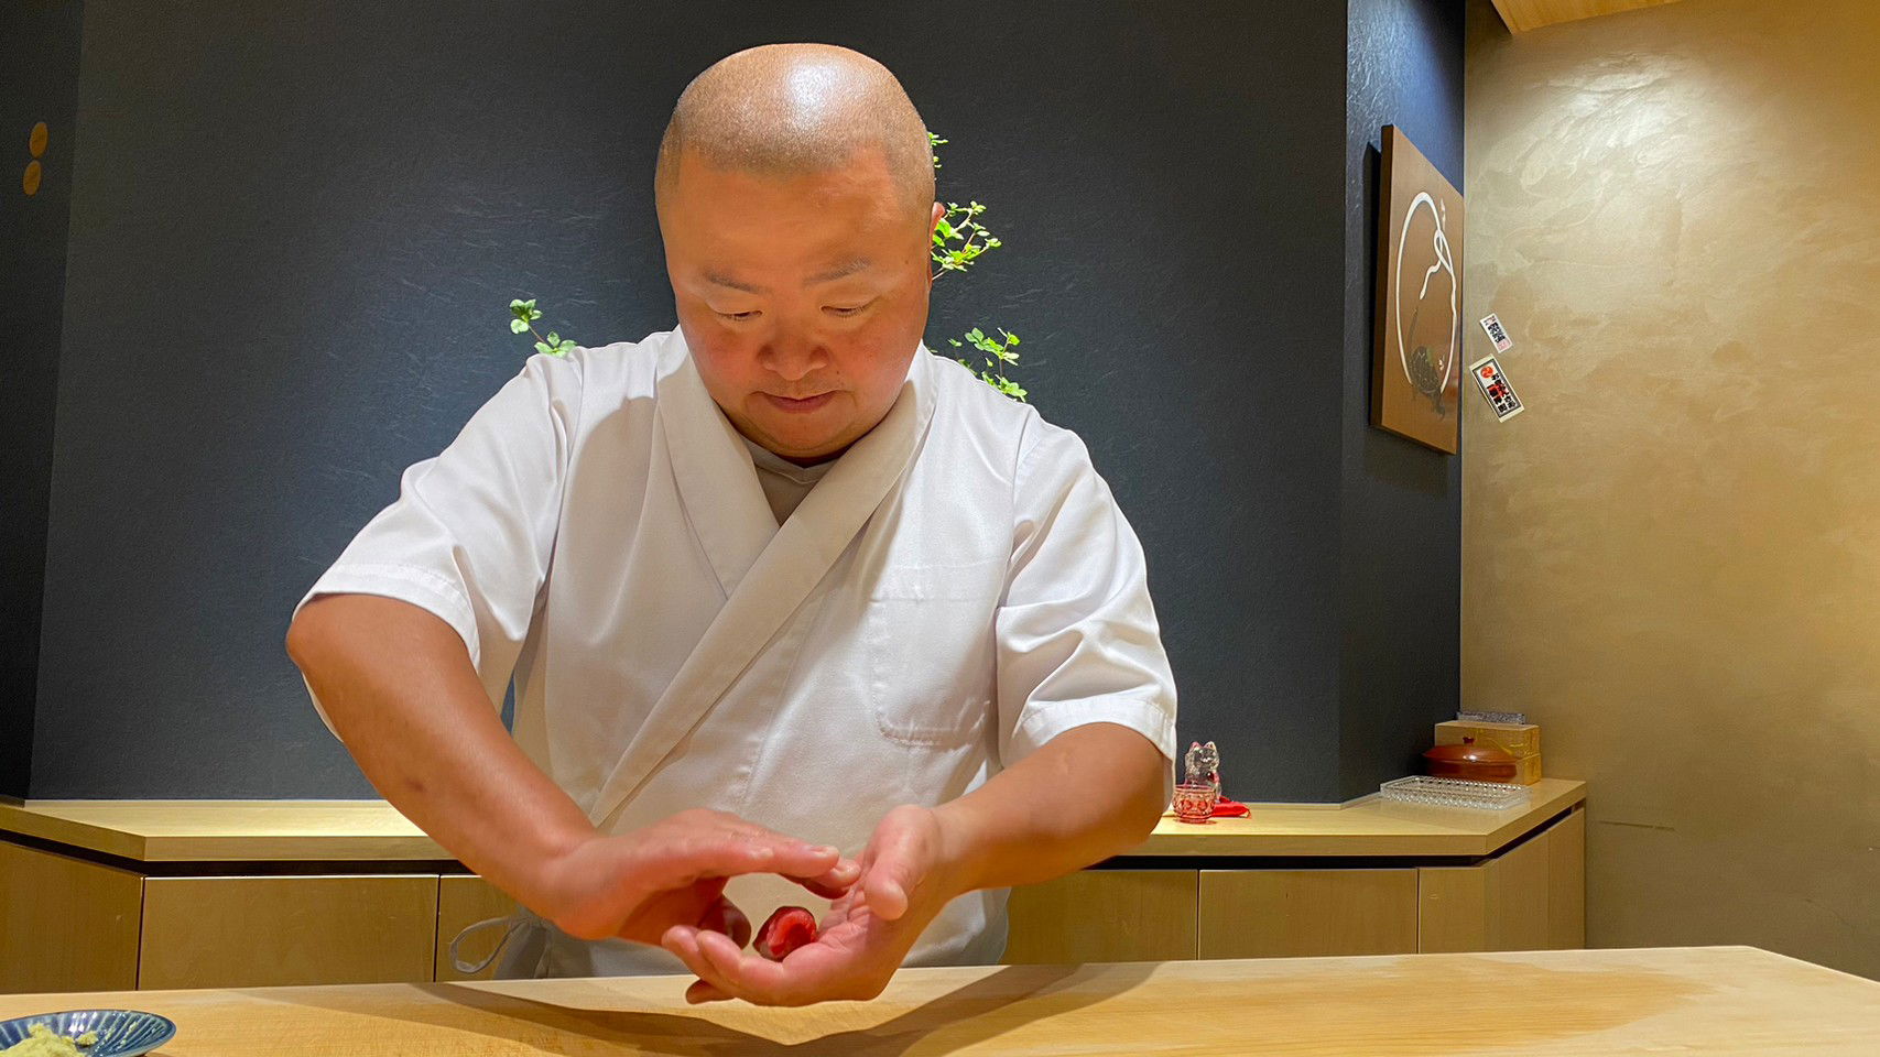
<svg viewBox="0 0 1880 1057">
<path fill-rule="evenodd" d="M 927 126 L 885 66 L 827 43 L 767 43 L 711 64 L 686 85 L 660 139 L 654 199 L 664 203 L 681 154 L 720 169 L 790 179 L 880 150 L 910 216 L 934 201 Z"/>
</svg>

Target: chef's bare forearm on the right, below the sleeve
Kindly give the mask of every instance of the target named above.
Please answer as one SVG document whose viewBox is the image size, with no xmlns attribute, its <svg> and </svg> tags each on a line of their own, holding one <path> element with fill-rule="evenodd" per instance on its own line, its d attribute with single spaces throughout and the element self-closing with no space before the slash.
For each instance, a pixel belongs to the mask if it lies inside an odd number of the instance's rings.
<svg viewBox="0 0 1880 1057">
<path fill-rule="evenodd" d="M 938 809 L 959 890 L 1036 884 L 1141 844 L 1167 807 L 1167 765 L 1119 724 L 1053 737 Z"/>
</svg>

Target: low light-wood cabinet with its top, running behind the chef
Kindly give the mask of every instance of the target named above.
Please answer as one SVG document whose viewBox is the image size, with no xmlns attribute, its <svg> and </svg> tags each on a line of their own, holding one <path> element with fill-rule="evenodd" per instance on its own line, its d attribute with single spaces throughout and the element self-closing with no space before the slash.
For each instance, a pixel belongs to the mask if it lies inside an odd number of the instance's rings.
<svg viewBox="0 0 1880 1057">
<path fill-rule="evenodd" d="M 1585 796 L 1164 820 L 1013 890 L 1006 961 L 1577 948 Z M 0 803 L 0 993 L 461 980 L 449 940 L 509 910 L 384 801 Z"/>
</svg>

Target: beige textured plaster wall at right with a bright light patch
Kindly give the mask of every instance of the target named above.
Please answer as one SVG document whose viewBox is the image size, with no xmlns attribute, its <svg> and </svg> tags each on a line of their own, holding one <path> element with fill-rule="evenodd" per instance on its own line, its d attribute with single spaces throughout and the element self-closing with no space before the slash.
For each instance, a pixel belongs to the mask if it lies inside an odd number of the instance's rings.
<svg viewBox="0 0 1880 1057">
<path fill-rule="evenodd" d="M 1463 700 L 1589 779 L 1594 946 L 1880 976 L 1880 2 L 1478 0 L 1466 120 Z"/>
</svg>

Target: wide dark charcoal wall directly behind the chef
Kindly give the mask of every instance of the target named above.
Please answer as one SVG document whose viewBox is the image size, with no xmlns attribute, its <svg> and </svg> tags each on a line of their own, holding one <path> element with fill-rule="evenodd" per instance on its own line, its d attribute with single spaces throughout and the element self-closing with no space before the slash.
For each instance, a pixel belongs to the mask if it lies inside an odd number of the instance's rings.
<svg viewBox="0 0 1880 1057">
<path fill-rule="evenodd" d="M 282 651 L 293 602 L 515 374 L 511 297 L 587 344 L 671 325 L 673 98 L 739 47 L 825 39 L 953 141 L 942 197 L 991 203 L 1006 246 L 936 286 L 929 344 L 1025 337 L 1034 402 L 1143 536 L 1183 739 L 1220 743 L 1235 796 L 1339 796 L 1354 585 L 1408 602 L 1340 572 L 1348 527 L 1427 483 L 1354 455 L 1346 28 L 1322 0 L 94 0 L 32 794 L 367 796 Z M 1408 587 L 1453 611 L 1449 517 Z M 1453 632 L 1425 660 L 1442 677 L 1389 685 L 1453 698 Z"/>
</svg>

